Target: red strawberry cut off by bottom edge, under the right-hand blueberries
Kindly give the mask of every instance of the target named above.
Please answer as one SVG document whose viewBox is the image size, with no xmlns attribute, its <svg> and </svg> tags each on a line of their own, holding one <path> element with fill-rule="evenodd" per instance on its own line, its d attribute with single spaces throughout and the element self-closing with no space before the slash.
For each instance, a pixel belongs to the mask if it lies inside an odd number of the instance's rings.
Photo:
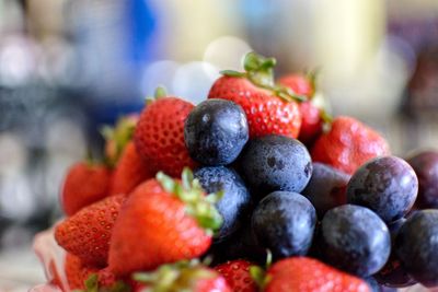
<svg viewBox="0 0 438 292">
<path fill-rule="evenodd" d="M 266 292 L 371 292 L 364 280 L 308 257 L 277 261 L 267 271 L 267 279 Z"/>
</svg>

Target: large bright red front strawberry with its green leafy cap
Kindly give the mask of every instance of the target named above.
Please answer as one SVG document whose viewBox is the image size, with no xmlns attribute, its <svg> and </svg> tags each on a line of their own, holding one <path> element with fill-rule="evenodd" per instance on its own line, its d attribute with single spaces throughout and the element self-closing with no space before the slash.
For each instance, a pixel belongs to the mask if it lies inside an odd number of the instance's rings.
<svg viewBox="0 0 438 292">
<path fill-rule="evenodd" d="M 116 275 L 191 259 L 211 244 L 221 217 L 185 168 L 183 183 L 159 173 L 128 197 L 114 226 L 110 268 Z"/>
</svg>

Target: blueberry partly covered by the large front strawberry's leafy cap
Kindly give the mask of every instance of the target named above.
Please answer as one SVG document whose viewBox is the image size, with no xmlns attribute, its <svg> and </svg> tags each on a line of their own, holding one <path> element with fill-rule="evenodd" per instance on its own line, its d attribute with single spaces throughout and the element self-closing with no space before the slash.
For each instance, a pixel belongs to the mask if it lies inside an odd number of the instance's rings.
<svg viewBox="0 0 438 292">
<path fill-rule="evenodd" d="M 223 197 L 216 203 L 223 223 L 215 235 L 215 241 L 221 241 L 239 229 L 251 207 L 250 191 L 239 174 L 224 166 L 203 167 L 194 176 L 207 192 L 223 191 Z"/>
</svg>

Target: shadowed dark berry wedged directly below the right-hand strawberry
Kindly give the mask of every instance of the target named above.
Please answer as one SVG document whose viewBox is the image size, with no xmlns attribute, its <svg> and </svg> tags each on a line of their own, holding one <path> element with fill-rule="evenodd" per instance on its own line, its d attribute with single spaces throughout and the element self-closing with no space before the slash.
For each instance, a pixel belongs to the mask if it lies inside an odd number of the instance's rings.
<svg viewBox="0 0 438 292">
<path fill-rule="evenodd" d="M 313 203 L 318 217 L 322 218 L 327 210 L 347 202 L 348 179 L 349 175 L 316 162 L 313 163 L 312 177 L 301 194 Z"/>
</svg>

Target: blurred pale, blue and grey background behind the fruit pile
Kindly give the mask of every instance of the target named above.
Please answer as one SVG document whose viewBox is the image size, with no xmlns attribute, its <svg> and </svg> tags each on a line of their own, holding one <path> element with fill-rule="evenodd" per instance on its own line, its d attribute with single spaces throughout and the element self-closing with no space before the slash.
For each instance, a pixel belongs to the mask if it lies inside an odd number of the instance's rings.
<svg viewBox="0 0 438 292">
<path fill-rule="evenodd" d="M 250 50 L 277 75 L 321 68 L 333 113 L 395 154 L 437 148 L 436 0 L 0 0 L 0 291 L 44 281 L 32 237 L 102 125 L 158 84 L 198 103 Z"/>
</svg>

